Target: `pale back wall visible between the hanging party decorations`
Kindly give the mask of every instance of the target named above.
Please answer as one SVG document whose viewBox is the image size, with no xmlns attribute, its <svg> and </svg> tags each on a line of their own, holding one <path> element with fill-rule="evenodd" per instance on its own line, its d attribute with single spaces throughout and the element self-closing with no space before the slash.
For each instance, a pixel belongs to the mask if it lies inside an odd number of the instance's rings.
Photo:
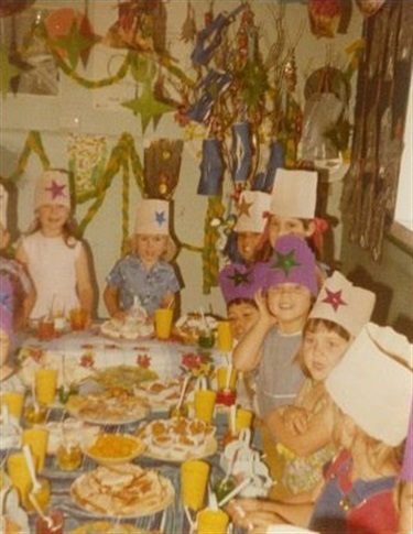
<svg viewBox="0 0 413 534">
<path fill-rule="evenodd" d="M 62 7 L 79 6 L 79 2 L 39 2 L 35 7 Z M 220 10 L 232 10 L 239 2 L 221 1 L 215 3 L 216 13 Z M 263 47 L 269 46 L 274 35 L 274 17 L 270 8 L 274 8 L 273 1 L 252 2 L 256 12 L 256 22 L 262 29 Z M 189 61 L 191 46 L 185 46 L 180 41 L 182 24 L 186 17 L 186 2 L 171 0 L 166 2 L 169 13 L 167 42 L 171 54 L 180 58 L 180 64 L 195 79 L 195 72 Z M 193 2 L 196 9 L 197 25 L 203 23 L 203 13 L 207 11 L 209 2 Z M 89 1 L 89 14 L 98 34 L 105 34 L 113 22 L 116 3 L 109 1 Z M 311 34 L 307 20 L 306 6 L 303 2 L 285 2 L 286 21 L 286 45 L 295 46 L 296 64 L 298 72 L 298 86 L 296 98 L 304 105 L 303 85 L 306 76 L 315 68 L 324 66 L 326 62 L 332 65 L 344 67 L 347 64 L 346 47 L 349 46 L 359 35 L 361 28 L 361 15 L 354 10 L 348 33 L 338 35 L 334 40 L 317 39 Z M 301 35 L 302 31 L 302 35 Z M 104 45 L 97 45 L 89 59 L 86 69 L 78 67 L 81 75 L 88 78 L 99 78 L 107 75 L 105 72 L 108 54 L 120 55 L 120 50 L 110 50 Z M 131 91 L 133 85 L 119 86 L 112 96 L 120 90 Z M 120 106 L 112 109 L 98 107 L 100 96 L 105 89 L 88 90 L 70 78 L 61 74 L 59 94 L 56 97 L 12 95 L 1 101 L 1 175 L 9 176 L 15 168 L 19 155 L 24 145 L 30 130 L 40 130 L 45 151 L 51 160 L 52 166 L 67 166 L 66 142 L 70 131 L 75 133 L 97 133 L 107 138 L 109 149 L 113 146 L 123 132 L 130 133 L 139 154 L 142 156 L 143 149 L 152 140 L 159 138 L 181 139 L 184 132 L 173 121 L 172 113 L 162 118 L 154 130 L 149 127 L 142 134 L 139 117 L 133 116 Z M 352 96 L 354 97 L 354 96 Z M 175 232 L 180 240 L 187 244 L 203 247 L 204 217 L 207 206 L 206 197 L 196 194 L 199 178 L 199 149 L 200 139 L 185 141 L 184 156 L 182 162 L 178 187 L 175 193 Z M 41 173 L 42 166 L 35 156 L 29 160 L 25 172 L 19 181 L 19 227 L 25 230 L 32 221 L 32 197 L 33 183 Z M 336 187 L 337 188 L 337 187 Z M 333 209 L 337 205 L 337 195 L 330 199 Z M 139 198 L 138 189 L 132 190 L 130 204 L 131 229 L 134 218 L 134 204 Z M 88 241 L 94 255 L 97 284 L 102 290 L 105 276 L 110 271 L 115 261 L 120 254 L 121 242 L 121 210 L 122 210 L 121 178 L 116 176 L 110 186 L 105 203 L 100 210 L 87 227 L 85 238 Z M 228 199 L 226 199 L 228 201 Z M 89 203 L 80 204 L 77 207 L 78 219 L 86 214 Z M 338 236 L 339 237 L 339 236 Z M 202 258 L 198 252 L 182 250 L 177 263 L 185 281 L 185 288 L 182 292 L 183 310 L 205 309 L 211 307 L 217 313 L 224 313 L 224 303 L 219 290 L 213 290 L 210 295 L 204 295 L 202 288 Z M 101 316 L 106 312 L 99 299 L 98 310 Z"/>
</svg>

